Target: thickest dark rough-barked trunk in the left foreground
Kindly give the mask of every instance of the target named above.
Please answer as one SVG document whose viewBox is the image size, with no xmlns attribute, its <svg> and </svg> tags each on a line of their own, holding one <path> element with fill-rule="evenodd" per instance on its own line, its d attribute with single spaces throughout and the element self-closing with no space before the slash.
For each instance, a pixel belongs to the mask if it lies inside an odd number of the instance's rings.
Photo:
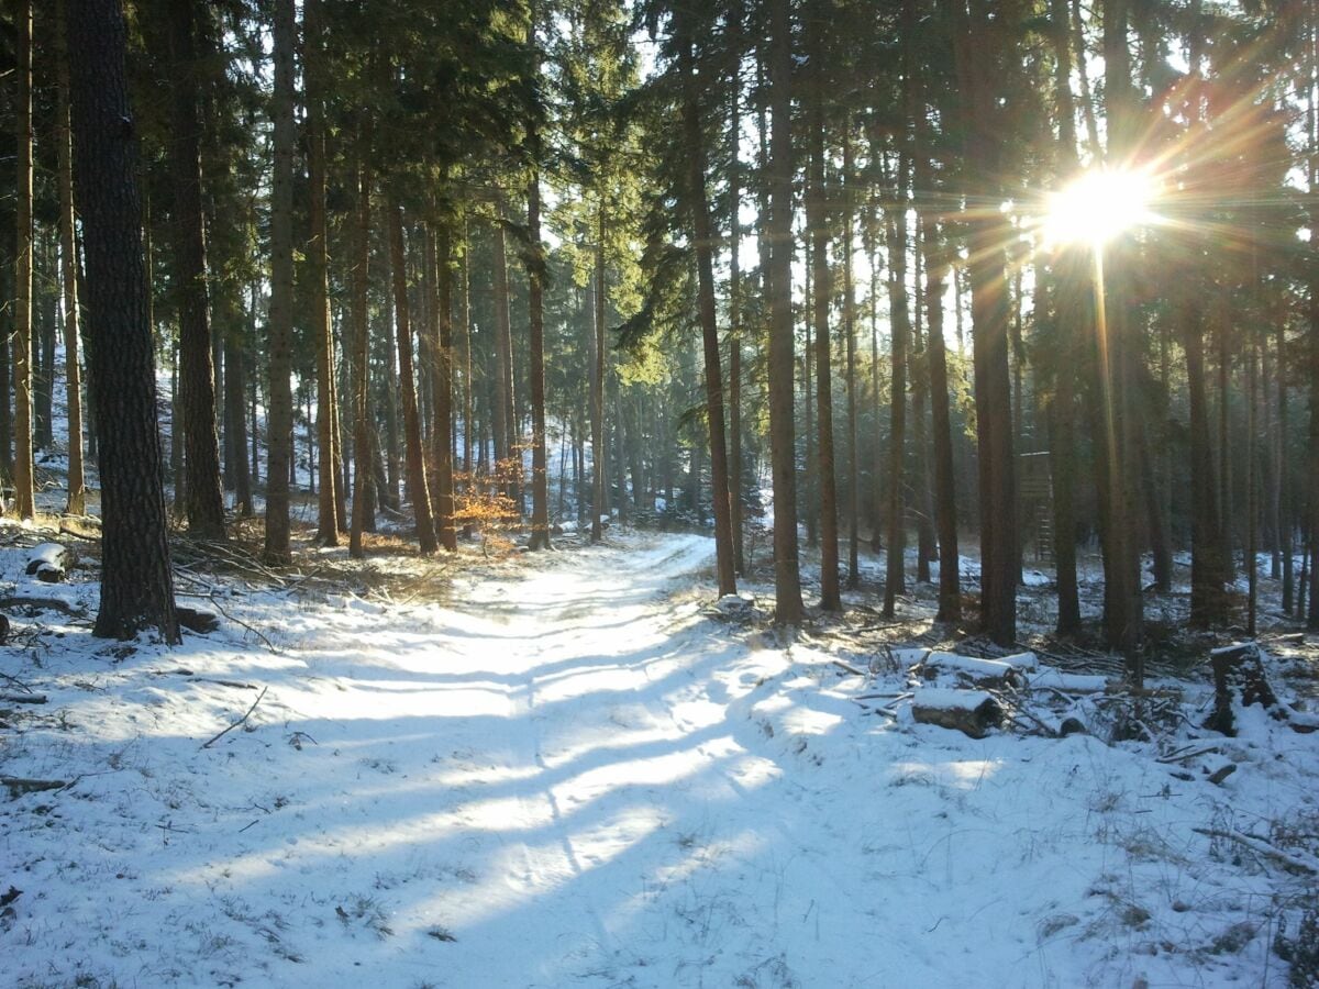
<svg viewBox="0 0 1319 989">
<path fill-rule="evenodd" d="M 146 319 L 136 137 L 125 120 L 127 29 L 117 0 L 71 0 L 74 179 L 86 252 L 95 406 L 103 423 L 102 589 L 94 634 L 156 628 L 178 641 Z"/>
</svg>

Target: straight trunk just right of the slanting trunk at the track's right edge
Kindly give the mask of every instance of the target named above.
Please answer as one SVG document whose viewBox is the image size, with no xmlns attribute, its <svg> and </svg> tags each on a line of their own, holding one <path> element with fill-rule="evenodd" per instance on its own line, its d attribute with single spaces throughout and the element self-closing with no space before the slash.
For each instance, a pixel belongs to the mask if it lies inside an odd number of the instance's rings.
<svg viewBox="0 0 1319 989">
<path fill-rule="evenodd" d="M 769 439 L 774 492 L 774 621 L 802 621 L 793 425 L 793 34 L 789 0 L 769 0 Z"/>
</svg>

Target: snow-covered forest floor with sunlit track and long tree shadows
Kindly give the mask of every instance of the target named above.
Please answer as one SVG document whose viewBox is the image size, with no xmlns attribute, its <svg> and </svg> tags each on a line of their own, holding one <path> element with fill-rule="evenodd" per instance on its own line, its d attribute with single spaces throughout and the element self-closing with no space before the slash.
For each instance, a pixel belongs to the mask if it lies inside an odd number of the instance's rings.
<svg viewBox="0 0 1319 989">
<path fill-rule="evenodd" d="M 86 567 L 38 584 L 51 535 Z M 181 553 L 222 621 L 169 649 L 91 638 L 92 543 L 0 525 L 0 593 L 63 603 L 7 608 L 0 775 L 59 786 L 0 790 L 0 984 L 1287 984 L 1319 733 L 1198 728 L 1203 663 L 1155 683 L 1144 741 L 1066 678 L 973 740 L 913 721 L 893 647 L 940 634 L 927 587 L 785 638 L 711 607 L 700 535 L 390 549 Z M 1093 733 L 1050 737 L 1064 715 Z"/>
</svg>

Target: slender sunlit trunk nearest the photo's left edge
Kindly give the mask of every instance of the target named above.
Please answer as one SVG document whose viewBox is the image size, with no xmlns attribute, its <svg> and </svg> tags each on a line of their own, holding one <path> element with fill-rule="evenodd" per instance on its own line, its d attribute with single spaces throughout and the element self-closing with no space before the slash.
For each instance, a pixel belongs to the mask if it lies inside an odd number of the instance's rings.
<svg viewBox="0 0 1319 989">
<path fill-rule="evenodd" d="M 37 514 L 32 467 L 32 0 L 15 8 L 18 61 L 17 127 L 17 239 L 15 252 L 13 393 L 15 463 L 13 498 L 20 518 Z"/>
</svg>

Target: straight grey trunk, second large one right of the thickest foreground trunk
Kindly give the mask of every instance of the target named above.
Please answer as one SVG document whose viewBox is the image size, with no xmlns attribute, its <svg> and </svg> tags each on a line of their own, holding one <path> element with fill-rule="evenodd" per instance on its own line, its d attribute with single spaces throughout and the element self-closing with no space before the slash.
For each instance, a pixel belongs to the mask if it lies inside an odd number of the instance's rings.
<svg viewBox="0 0 1319 989">
<path fill-rule="evenodd" d="M 266 406 L 265 559 L 293 560 L 289 546 L 289 468 L 293 460 L 293 0 L 274 0 L 274 171 L 270 183 L 270 388 Z"/>
</svg>

